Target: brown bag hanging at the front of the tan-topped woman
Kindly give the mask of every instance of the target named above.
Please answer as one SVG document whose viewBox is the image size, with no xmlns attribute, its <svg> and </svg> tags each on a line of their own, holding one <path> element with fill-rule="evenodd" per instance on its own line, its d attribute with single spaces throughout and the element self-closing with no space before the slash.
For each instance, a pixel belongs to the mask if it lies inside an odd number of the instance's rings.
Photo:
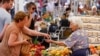
<svg viewBox="0 0 100 56">
<path fill-rule="evenodd" d="M 32 43 L 32 39 L 30 36 L 23 34 L 23 39 L 27 39 L 30 43 Z M 21 50 L 20 50 L 20 56 L 29 56 L 31 44 L 25 45 L 22 44 Z"/>
</svg>

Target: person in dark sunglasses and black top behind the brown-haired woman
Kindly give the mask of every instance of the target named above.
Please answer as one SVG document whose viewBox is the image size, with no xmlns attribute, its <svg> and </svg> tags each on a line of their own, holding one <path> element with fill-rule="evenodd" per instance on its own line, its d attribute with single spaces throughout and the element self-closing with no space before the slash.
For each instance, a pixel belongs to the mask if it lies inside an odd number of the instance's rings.
<svg viewBox="0 0 100 56">
<path fill-rule="evenodd" d="M 35 30 L 35 23 L 36 23 L 36 15 L 34 15 L 35 11 L 36 11 L 36 5 L 33 2 L 29 2 L 26 4 L 26 9 L 28 14 L 30 14 L 30 19 L 28 22 L 28 27 L 29 29 Z M 37 36 L 30 36 L 32 38 L 32 42 L 34 43 L 35 39 L 37 38 Z"/>
</svg>

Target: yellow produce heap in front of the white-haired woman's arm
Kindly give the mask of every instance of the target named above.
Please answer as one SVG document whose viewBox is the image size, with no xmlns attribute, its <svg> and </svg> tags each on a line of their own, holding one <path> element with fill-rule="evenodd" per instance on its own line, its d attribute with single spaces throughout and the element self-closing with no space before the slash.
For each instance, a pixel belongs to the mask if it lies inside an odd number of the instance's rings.
<svg viewBox="0 0 100 56">
<path fill-rule="evenodd" d="M 72 53 L 71 50 L 64 46 L 50 47 L 48 50 L 49 56 L 67 56 Z"/>
</svg>

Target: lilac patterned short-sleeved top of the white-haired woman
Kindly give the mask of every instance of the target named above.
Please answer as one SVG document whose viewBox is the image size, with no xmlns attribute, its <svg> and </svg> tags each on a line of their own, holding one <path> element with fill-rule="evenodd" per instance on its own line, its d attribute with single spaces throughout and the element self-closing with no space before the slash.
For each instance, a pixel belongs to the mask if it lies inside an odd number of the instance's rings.
<svg viewBox="0 0 100 56">
<path fill-rule="evenodd" d="M 73 32 L 68 39 L 64 41 L 64 43 L 72 48 L 73 51 L 88 48 L 89 42 L 86 32 L 83 30 L 76 30 Z"/>
</svg>

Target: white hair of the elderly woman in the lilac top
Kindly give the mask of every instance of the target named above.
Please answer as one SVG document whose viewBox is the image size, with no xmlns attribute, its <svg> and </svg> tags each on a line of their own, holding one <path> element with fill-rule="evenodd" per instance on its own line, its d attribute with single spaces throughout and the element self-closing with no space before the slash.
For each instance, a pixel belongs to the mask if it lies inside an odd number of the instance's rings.
<svg viewBox="0 0 100 56">
<path fill-rule="evenodd" d="M 78 27 L 81 29 L 83 28 L 83 21 L 81 18 L 77 17 L 77 16 L 73 16 L 73 17 L 70 17 L 68 19 L 70 22 L 74 23 L 75 25 L 78 25 Z"/>
</svg>

